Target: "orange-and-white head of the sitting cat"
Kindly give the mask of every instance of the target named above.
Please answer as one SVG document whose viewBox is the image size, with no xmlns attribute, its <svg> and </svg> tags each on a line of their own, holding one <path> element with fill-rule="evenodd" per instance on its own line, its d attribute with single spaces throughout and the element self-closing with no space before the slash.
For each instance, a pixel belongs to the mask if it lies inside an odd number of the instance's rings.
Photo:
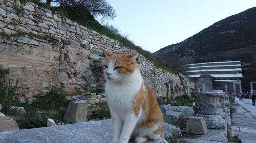
<svg viewBox="0 0 256 143">
<path fill-rule="evenodd" d="M 119 81 L 129 77 L 136 68 L 138 68 L 136 58 L 137 53 L 134 54 L 113 54 L 104 51 L 106 60 L 103 63 L 103 73 L 107 80 Z"/>
</svg>

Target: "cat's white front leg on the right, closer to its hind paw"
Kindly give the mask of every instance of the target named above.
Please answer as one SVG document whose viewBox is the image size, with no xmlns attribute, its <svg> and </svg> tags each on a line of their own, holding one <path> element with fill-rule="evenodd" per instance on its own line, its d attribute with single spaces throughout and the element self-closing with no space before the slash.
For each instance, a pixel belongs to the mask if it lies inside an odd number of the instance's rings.
<svg viewBox="0 0 256 143">
<path fill-rule="evenodd" d="M 127 143 L 130 139 L 130 136 L 138 122 L 139 118 L 134 115 L 134 113 L 127 115 L 125 117 L 123 128 L 120 134 L 118 143 Z"/>
</svg>

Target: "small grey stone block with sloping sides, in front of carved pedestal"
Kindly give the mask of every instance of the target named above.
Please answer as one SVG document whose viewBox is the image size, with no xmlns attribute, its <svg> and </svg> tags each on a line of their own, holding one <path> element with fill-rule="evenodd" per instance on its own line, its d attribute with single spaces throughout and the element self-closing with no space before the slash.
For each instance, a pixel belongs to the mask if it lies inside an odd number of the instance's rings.
<svg viewBox="0 0 256 143">
<path fill-rule="evenodd" d="M 208 129 L 206 127 L 203 117 L 190 117 L 186 125 L 186 132 L 194 134 L 206 134 Z"/>
</svg>

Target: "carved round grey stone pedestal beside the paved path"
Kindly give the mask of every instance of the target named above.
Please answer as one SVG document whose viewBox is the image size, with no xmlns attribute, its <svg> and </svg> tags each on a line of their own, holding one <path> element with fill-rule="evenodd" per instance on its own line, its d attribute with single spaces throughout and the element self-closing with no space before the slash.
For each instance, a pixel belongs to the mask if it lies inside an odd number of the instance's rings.
<svg viewBox="0 0 256 143">
<path fill-rule="evenodd" d="M 221 101 L 227 96 L 223 91 L 191 92 L 191 95 L 197 98 L 196 106 L 201 109 L 199 116 L 204 118 L 207 128 L 226 128 L 226 123 L 218 111 Z"/>
</svg>

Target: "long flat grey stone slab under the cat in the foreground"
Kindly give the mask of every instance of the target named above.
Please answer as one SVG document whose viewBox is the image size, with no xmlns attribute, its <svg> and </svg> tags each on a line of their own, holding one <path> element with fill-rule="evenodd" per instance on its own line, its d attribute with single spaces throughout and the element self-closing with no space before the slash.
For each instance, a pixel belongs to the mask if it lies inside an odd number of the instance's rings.
<svg viewBox="0 0 256 143">
<path fill-rule="evenodd" d="M 112 138 L 112 121 L 101 120 L 68 125 L 0 132 L 0 142 L 15 143 L 18 139 L 34 139 L 44 143 L 105 143 Z M 132 143 L 133 141 L 130 141 Z M 147 143 L 168 143 L 163 138 Z"/>
</svg>

